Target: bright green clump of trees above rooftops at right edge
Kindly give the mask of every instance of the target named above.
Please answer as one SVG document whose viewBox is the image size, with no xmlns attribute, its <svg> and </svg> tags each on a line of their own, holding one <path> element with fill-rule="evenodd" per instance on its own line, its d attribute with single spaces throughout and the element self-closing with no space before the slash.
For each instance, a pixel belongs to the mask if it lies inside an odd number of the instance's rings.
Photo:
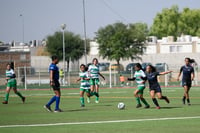
<svg viewBox="0 0 200 133">
<path fill-rule="evenodd" d="M 200 9 L 190 10 L 184 8 L 179 11 L 178 6 L 174 5 L 170 9 L 164 8 L 154 18 L 153 25 L 150 29 L 150 35 L 158 38 L 166 36 L 180 36 L 188 34 L 200 36 Z"/>
</svg>

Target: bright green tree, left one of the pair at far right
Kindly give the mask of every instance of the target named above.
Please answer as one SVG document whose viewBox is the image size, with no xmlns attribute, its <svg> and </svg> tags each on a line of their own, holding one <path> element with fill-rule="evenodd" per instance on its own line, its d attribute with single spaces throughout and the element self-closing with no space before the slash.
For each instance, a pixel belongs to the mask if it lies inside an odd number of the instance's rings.
<svg viewBox="0 0 200 133">
<path fill-rule="evenodd" d="M 172 6 L 170 9 L 164 8 L 154 18 L 153 25 L 150 29 L 150 35 L 158 38 L 166 36 L 178 36 L 177 25 L 180 17 L 178 6 Z"/>
</svg>

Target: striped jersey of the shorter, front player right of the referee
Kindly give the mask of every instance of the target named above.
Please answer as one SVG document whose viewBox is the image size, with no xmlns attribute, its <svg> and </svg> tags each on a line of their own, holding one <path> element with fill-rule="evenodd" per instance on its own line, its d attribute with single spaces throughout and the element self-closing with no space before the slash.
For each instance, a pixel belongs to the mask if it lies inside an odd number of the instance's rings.
<svg viewBox="0 0 200 133">
<path fill-rule="evenodd" d="M 88 72 L 80 72 L 79 77 L 81 78 L 81 86 L 82 89 L 90 89 L 89 80 L 85 80 L 84 78 L 88 78 Z"/>
</svg>

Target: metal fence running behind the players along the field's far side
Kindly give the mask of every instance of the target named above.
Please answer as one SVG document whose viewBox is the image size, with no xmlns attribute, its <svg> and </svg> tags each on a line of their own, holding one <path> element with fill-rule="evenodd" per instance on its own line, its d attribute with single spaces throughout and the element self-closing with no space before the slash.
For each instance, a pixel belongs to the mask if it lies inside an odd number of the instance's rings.
<svg viewBox="0 0 200 133">
<path fill-rule="evenodd" d="M 173 73 L 167 74 L 164 76 L 159 76 L 158 80 L 161 85 L 164 86 L 173 86 L 173 85 L 180 85 L 180 82 L 177 81 L 177 76 L 179 73 L 180 66 L 170 66 L 166 67 L 165 71 L 172 70 Z M 193 85 L 199 85 L 199 69 L 195 69 L 195 80 Z M 134 82 L 129 82 L 126 79 L 128 77 L 133 77 L 133 72 L 131 71 L 116 71 L 116 70 L 108 70 L 108 71 L 101 71 L 101 74 L 104 75 L 105 81 L 100 78 L 100 85 L 104 87 L 122 87 L 122 86 L 135 86 Z M 35 85 L 40 88 L 43 84 L 49 84 L 49 72 L 48 68 L 33 68 L 33 67 L 18 67 L 15 69 L 17 83 L 18 85 L 22 85 L 25 89 L 29 89 L 30 85 Z M 65 73 L 66 79 L 60 80 L 61 86 L 65 84 L 64 87 L 68 88 L 76 88 L 79 86 L 77 79 L 79 78 L 79 71 L 70 71 Z M 125 77 L 125 83 L 121 84 L 120 82 L 120 75 Z M 3 80 L 5 79 L 4 75 L 0 76 L 0 83 L 1 85 L 4 84 Z M 65 83 L 64 83 L 65 82 Z"/>
</svg>

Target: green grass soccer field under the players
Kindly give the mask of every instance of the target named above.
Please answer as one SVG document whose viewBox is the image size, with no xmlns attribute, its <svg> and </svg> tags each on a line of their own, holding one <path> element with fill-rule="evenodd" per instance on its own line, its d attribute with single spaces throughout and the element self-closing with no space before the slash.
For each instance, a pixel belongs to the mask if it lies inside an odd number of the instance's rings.
<svg viewBox="0 0 200 133">
<path fill-rule="evenodd" d="M 182 105 L 181 87 L 163 88 L 163 94 L 170 98 L 170 104 L 159 100 L 161 109 L 155 109 L 148 89 L 145 97 L 150 109 L 136 109 L 134 88 L 113 88 L 100 90 L 100 103 L 94 98 L 81 108 L 79 89 L 63 89 L 62 113 L 47 112 L 43 105 L 52 97 L 49 89 L 22 91 L 25 104 L 10 94 L 9 104 L 0 104 L 0 133 L 196 133 L 200 131 L 200 89 L 192 87 L 191 106 Z M 5 92 L 0 91 L 3 100 Z M 126 108 L 118 110 L 117 104 L 124 102 Z M 54 105 L 52 105 L 54 108 Z"/>
</svg>

